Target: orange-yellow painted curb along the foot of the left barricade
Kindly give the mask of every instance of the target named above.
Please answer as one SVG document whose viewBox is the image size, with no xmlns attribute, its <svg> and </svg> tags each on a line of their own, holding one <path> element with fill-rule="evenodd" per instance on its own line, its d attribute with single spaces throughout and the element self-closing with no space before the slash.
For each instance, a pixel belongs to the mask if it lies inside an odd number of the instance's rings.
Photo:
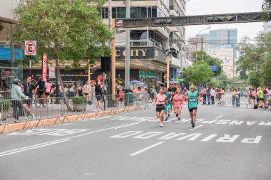
<svg viewBox="0 0 271 180">
<path fill-rule="evenodd" d="M 26 121 L 26 122 L 19 122 L 14 124 L 6 124 L 0 125 L 0 134 L 4 134 L 6 132 L 18 131 L 21 129 L 29 129 L 29 128 L 36 128 L 36 127 L 43 127 L 43 126 L 50 126 L 50 125 L 58 125 L 67 122 L 75 122 L 78 120 L 85 120 L 86 118 L 95 118 L 95 117 L 103 117 L 106 115 L 115 115 L 116 113 L 121 112 L 130 112 L 134 110 L 141 110 L 144 106 L 139 107 L 131 107 L 131 108 L 121 108 L 117 110 L 106 110 L 103 112 L 91 112 L 81 115 L 71 115 L 66 117 L 56 117 L 46 120 L 34 120 L 34 121 Z M 114 113 L 112 113 L 114 112 Z"/>
</svg>

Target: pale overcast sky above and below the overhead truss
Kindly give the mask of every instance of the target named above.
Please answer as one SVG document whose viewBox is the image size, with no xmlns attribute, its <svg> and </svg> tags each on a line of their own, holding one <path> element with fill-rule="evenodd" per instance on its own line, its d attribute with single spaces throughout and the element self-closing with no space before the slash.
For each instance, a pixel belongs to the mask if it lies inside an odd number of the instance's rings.
<svg viewBox="0 0 271 180">
<path fill-rule="evenodd" d="M 186 0 L 187 1 L 187 0 Z M 186 3 L 186 15 L 226 14 L 262 11 L 262 0 L 190 0 Z M 244 36 L 254 38 L 262 31 L 263 23 L 228 23 L 210 25 L 211 29 L 237 28 L 237 41 Z M 208 26 L 186 26 L 186 38 L 195 37 Z M 202 31 L 208 33 L 209 30 Z"/>
</svg>

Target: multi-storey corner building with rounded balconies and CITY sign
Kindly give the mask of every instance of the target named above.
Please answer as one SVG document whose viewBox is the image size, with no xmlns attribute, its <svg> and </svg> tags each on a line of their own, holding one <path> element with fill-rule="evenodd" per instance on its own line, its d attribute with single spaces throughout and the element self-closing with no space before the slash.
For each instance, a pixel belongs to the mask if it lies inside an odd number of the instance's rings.
<svg viewBox="0 0 271 180">
<path fill-rule="evenodd" d="M 112 17 L 126 18 L 126 1 L 112 1 Z M 99 9 L 105 23 L 108 23 L 108 3 Z M 131 1 L 131 18 L 185 16 L 184 0 L 139 0 Z M 140 80 L 148 85 L 164 82 L 166 73 L 166 52 L 170 52 L 170 83 L 179 84 L 176 70 L 185 58 L 185 27 L 140 27 L 131 28 L 131 80 Z M 125 28 L 116 33 L 116 69 L 120 84 L 124 82 Z"/>
</svg>

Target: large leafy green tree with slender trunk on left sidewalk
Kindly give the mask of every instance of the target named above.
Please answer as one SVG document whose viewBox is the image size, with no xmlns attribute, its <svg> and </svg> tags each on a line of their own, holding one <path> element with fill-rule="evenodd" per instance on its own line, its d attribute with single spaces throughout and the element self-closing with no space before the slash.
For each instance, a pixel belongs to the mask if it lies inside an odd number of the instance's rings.
<svg viewBox="0 0 271 180">
<path fill-rule="evenodd" d="M 20 26 L 16 39 L 37 40 L 39 57 L 47 53 L 56 60 L 62 89 L 61 61 L 72 60 L 73 65 L 78 66 L 83 58 L 93 60 L 93 55 L 110 52 L 107 45 L 113 33 L 97 11 L 104 1 L 92 1 L 96 4 L 92 6 L 88 3 L 89 0 L 22 0 L 15 10 Z M 66 97 L 66 93 L 63 95 Z"/>
</svg>

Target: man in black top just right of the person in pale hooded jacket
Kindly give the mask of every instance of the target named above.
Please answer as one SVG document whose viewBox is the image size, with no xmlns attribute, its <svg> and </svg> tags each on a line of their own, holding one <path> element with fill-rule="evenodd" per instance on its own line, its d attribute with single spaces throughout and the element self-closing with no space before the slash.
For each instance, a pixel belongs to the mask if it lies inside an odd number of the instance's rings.
<svg viewBox="0 0 271 180">
<path fill-rule="evenodd" d="M 31 82 L 32 78 L 26 78 L 26 82 L 23 83 L 24 86 L 24 95 L 28 96 L 29 99 L 25 100 L 24 103 L 27 105 L 29 110 L 31 110 L 33 94 L 35 94 L 36 86 Z"/>
</svg>

